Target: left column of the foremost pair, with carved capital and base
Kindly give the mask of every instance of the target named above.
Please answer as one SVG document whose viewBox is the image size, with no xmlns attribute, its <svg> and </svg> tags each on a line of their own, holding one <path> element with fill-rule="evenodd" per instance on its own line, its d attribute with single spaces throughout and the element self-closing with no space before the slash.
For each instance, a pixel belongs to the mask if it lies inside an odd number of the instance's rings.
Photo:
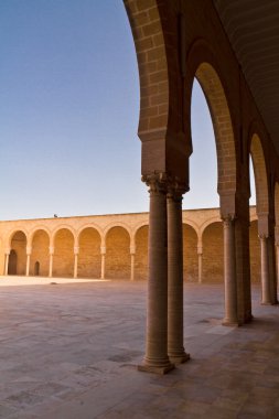
<svg viewBox="0 0 279 419">
<path fill-rule="evenodd" d="M 150 186 L 148 311 L 146 356 L 138 368 L 165 374 L 174 367 L 168 356 L 167 180 L 164 174 L 143 180 Z"/>
</svg>

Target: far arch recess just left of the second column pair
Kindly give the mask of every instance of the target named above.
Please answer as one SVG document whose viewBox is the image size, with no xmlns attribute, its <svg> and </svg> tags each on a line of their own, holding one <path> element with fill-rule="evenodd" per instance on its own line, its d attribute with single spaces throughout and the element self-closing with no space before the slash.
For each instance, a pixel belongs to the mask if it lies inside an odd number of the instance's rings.
<svg viewBox="0 0 279 419">
<path fill-rule="evenodd" d="M 203 282 L 224 281 L 223 223 L 213 222 L 203 230 Z"/>
</svg>

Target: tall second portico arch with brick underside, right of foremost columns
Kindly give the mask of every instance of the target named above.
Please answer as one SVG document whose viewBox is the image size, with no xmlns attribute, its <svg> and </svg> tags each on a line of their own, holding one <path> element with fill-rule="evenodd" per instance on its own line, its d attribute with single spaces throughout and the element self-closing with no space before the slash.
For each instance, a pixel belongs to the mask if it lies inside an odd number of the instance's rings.
<svg viewBox="0 0 279 419">
<path fill-rule="evenodd" d="M 226 78 L 222 76 L 218 60 L 211 51 L 210 45 L 201 39 L 196 40 L 187 52 L 186 68 L 184 118 L 187 120 L 189 138 L 191 139 L 191 95 L 194 78 L 196 78 L 207 100 L 215 133 L 217 192 L 221 196 L 221 207 L 224 207 L 226 213 L 235 213 L 236 141 Z M 189 147 L 192 148 L 192 141 Z"/>
</svg>

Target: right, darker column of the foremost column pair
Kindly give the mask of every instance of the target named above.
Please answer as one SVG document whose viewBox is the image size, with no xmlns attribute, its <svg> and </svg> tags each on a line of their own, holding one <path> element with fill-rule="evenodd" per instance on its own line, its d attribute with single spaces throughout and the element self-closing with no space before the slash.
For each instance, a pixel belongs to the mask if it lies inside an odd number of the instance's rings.
<svg viewBox="0 0 279 419">
<path fill-rule="evenodd" d="M 181 364 L 190 355 L 183 342 L 182 191 L 175 186 L 168 192 L 168 355 Z"/>
</svg>

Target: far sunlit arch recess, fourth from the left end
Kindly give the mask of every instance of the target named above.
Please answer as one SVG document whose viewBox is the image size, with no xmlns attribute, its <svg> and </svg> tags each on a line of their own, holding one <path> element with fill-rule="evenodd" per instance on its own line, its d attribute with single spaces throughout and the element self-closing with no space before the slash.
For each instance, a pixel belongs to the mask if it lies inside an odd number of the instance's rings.
<svg viewBox="0 0 279 419">
<path fill-rule="evenodd" d="M 77 273 L 83 278 L 100 277 L 100 235 L 93 228 L 83 229 L 79 235 Z"/>
</svg>

